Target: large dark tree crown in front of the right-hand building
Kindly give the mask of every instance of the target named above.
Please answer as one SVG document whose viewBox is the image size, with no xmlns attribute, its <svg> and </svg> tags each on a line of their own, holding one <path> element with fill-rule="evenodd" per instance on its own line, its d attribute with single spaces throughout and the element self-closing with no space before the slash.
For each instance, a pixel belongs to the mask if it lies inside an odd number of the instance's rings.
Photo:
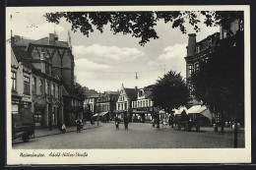
<svg viewBox="0 0 256 170">
<path fill-rule="evenodd" d="M 213 112 L 243 120 L 243 32 L 223 39 L 216 52 L 209 56 L 209 60 L 201 61 L 200 70 L 192 76 L 192 84 L 196 99 L 202 100 Z"/>
</svg>

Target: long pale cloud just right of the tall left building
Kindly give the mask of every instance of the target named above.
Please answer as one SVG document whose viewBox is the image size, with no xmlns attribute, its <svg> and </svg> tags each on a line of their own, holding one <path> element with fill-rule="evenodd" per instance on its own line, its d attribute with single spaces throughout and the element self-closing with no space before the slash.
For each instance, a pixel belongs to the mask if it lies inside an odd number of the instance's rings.
<svg viewBox="0 0 256 170">
<path fill-rule="evenodd" d="M 125 63 L 134 62 L 145 55 L 137 48 L 121 48 L 117 46 L 101 46 L 93 44 L 90 46 L 75 45 L 73 52 L 77 58 L 87 58 L 96 63 Z"/>
</svg>

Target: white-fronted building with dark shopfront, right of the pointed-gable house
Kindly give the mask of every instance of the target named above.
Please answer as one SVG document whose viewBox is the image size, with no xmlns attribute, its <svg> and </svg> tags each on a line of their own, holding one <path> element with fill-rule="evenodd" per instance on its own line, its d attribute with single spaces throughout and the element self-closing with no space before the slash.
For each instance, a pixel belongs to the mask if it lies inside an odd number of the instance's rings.
<svg viewBox="0 0 256 170">
<path fill-rule="evenodd" d="M 132 101 L 133 122 L 152 121 L 152 116 L 154 112 L 152 89 L 153 86 L 149 85 L 138 90 L 137 99 L 135 101 Z"/>
</svg>

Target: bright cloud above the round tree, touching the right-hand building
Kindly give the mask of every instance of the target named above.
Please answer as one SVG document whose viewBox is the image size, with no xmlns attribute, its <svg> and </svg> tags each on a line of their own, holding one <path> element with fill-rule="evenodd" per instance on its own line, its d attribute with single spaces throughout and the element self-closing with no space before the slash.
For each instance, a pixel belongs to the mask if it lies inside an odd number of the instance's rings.
<svg viewBox="0 0 256 170">
<path fill-rule="evenodd" d="M 150 67 L 157 67 L 168 71 L 175 71 L 180 73 L 183 78 L 186 77 L 186 62 L 184 57 L 186 56 L 186 44 L 175 44 L 173 46 L 167 46 L 162 50 L 162 53 L 156 60 L 149 61 Z"/>
</svg>

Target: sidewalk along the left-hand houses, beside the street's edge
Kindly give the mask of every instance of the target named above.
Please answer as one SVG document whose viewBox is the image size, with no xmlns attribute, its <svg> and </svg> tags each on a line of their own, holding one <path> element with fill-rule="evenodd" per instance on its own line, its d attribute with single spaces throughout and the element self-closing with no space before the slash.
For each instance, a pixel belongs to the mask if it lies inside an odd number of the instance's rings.
<svg viewBox="0 0 256 170">
<path fill-rule="evenodd" d="M 98 127 L 101 127 L 101 125 L 99 124 L 99 126 L 97 126 L 96 124 L 91 125 L 90 123 L 87 123 L 87 124 L 84 124 L 82 131 L 90 130 L 90 129 L 94 129 L 94 128 L 98 128 Z M 71 126 L 71 127 L 66 127 L 66 128 L 67 128 L 66 133 L 71 133 L 71 132 L 77 131 L 76 126 Z M 48 128 L 34 130 L 34 138 L 53 136 L 53 135 L 59 135 L 59 134 L 63 134 L 63 133 L 60 133 L 58 128 L 52 128 L 52 131 L 50 131 Z"/>
</svg>

